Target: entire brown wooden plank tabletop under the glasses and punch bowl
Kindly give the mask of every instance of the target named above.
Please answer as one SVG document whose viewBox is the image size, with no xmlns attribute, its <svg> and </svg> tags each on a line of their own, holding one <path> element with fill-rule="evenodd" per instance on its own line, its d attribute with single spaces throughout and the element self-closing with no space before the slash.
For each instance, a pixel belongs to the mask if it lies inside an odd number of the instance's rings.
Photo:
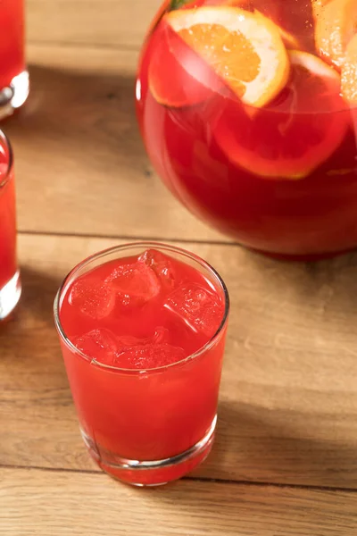
<svg viewBox="0 0 357 536">
<path fill-rule="evenodd" d="M 0 326 L 0 533 L 357 534 L 357 256 L 284 264 L 187 214 L 155 176 L 133 84 L 158 0 L 28 0 L 29 103 L 4 130 L 16 156 L 23 297 Z M 232 312 L 212 456 L 136 490 L 79 437 L 54 331 L 60 281 L 134 239 L 202 255 Z"/>
</svg>

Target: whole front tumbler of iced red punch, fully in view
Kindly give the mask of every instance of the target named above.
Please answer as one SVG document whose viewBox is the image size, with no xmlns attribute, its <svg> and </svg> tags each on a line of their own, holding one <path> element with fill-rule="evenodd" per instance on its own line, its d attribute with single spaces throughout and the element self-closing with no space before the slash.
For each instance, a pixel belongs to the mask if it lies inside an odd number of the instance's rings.
<svg viewBox="0 0 357 536">
<path fill-rule="evenodd" d="M 89 257 L 54 317 L 87 448 L 106 473 L 159 485 L 212 448 L 228 292 L 209 264 L 141 243 Z"/>
</svg>

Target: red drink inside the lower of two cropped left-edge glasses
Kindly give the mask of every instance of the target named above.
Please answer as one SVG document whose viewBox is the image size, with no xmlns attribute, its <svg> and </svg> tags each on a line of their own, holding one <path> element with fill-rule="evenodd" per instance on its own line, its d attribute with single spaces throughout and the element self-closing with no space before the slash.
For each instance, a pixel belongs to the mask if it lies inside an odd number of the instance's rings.
<svg viewBox="0 0 357 536">
<path fill-rule="evenodd" d="M 6 175 L 8 155 L 5 153 L 0 151 L 0 289 L 12 279 L 17 269 L 15 185 L 13 172 L 9 177 Z"/>
</svg>

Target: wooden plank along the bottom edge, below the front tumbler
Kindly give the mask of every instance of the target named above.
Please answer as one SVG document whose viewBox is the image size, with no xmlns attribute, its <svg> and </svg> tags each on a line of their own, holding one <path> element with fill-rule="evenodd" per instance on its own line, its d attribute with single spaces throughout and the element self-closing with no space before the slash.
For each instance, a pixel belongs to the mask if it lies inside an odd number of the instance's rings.
<svg viewBox="0 0 357 536">
<path fill-rule="evenodd" d="M 181 481 L 137 490 L 104 474 L 0 471 L 7 536 L 351 536 L 356 493 Z M 104 528 L 105 527 L 105 528 Z"/>
</svg>

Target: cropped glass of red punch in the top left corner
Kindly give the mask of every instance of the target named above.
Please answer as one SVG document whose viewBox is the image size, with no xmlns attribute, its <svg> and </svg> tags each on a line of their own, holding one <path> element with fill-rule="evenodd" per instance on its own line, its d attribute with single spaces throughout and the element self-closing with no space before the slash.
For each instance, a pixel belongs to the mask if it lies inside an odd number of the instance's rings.
<svg viewBox="0 0 357 536">
<path fill-rule="evenodd" d="M 25 63 L 24 0 L 0 2 L 0 119 L 29 95 Z"/>
</svg>

